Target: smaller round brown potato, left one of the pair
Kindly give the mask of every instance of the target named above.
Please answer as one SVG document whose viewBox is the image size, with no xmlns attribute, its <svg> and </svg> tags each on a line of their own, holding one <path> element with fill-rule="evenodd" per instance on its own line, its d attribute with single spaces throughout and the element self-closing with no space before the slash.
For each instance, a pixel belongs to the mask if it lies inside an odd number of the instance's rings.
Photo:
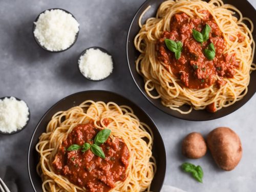
<svg viewBox="0 0 256 192">
<path fill-rule="evenodd" d="M 190 133 L 182 141 L 182 154 L 187 158 L 201 158 L 205 155 L 206 150 L 205 140 L 200 133 Z"/>
</svg>

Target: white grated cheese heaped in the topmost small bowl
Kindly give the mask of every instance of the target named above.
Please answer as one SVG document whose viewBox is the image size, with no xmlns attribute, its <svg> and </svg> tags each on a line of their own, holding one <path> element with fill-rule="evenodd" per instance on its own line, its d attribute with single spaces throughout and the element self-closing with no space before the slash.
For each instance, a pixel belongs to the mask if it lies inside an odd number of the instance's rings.
<svg viewBox="0 0 256 192">
<path fill-rule="evenodd" d="M 75 41 L 79 24 L 69 13 L 60 10 L 46 10 L 37 19 L 34 35 L 50 51 L 68 49 Z"/>
</svg>

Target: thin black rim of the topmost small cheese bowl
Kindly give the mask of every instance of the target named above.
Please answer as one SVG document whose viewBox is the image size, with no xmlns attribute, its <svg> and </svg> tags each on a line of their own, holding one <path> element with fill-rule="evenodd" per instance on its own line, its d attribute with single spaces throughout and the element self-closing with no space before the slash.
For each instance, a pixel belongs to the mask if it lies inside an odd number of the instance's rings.
<svg viewBox="0 0 256 192">
<path fill-rule="evenodd" d="M 50 10 L 55 10 L 55 9 L 60 9 L 60 8 L 46 9 L 45 11 L 47 11 L 47 10 L 50 11 Z M 72 13 L 68 12 L 67 10 L 65 10 L 65 9 L 60 9 L 60 10 L 65 11 L 66 13 L 71 14 L 72 17 L 74 17 L 74 19 L 76 19 L 76 17 L 75 17 Z M 45 11 L 42 11 L 40 14 L 44 13 Z M 34 23 L 33 23 L 33 37 L 34 37 L 34 40 L 36 41 L 37 45 L 38 45 L 40 48 L 42 48 L 42 49 L 44 49 L 44 50 L 46 50 L 46 51 L 48 51 L 48 52 L 51 52 L 51 53 L 59 53 L 59 52 L 63 52 L 63 51 L 66 51 L 66 50 L 70 49 L 70 48 L 75 44 L 75 42 L 76 42 L 76 40 L 77 40 L 77 37 L 78 37 L 78 34 L 79 34 L 79 26 L 78 26 L 78 32 L 76 33 L 75 40 L 74 40 L 73 44 L 71 44 L 67 49 L 63 49 L 63 50 L 60 50 L 60 51 L 50 51 L 50 50 L 48 50 L 47 48 L 45 48 L 44 46 L 42 46 L 42 45 L 40 44 L 39 40 L 38 40 L 38 39 L 35 37 L 35 35 L 34 35 L 34 31 L 35 31 L 35 27 L 36 27 L 35 22 L 37 22 L 37 20 L 38 20 L 40 14 L 36 17 L 36 19 L 35 19 L 35 21 L 34 21 Z M 76 20 L 76 21 L 77 21 L 77 20 Z"/>
</svg>

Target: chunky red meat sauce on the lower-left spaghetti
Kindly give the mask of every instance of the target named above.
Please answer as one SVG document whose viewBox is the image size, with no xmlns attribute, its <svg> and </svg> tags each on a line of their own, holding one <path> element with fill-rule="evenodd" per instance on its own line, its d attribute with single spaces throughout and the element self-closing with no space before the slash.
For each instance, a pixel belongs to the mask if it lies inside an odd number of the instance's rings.
<svg viewBox="0 0 256 192">
<path fill-rule="evenodd" d="M 75 185 L 86 187 L 90 192 L 106 192 L 115 186 L 115 182 L 124 181 L 129 164 L 128 148 L 117 137 L 113 140 L 108 138 L 100 145 L 105 159 L 94 155 L 91 150 L 84 153 L 81 150 L 66 150 L 72 144 L 93 144 L 99 131 L 93 122 L 77 125 L 62 142 L 52 162 L 56 174 L 65 176 Z"/>
</svg>

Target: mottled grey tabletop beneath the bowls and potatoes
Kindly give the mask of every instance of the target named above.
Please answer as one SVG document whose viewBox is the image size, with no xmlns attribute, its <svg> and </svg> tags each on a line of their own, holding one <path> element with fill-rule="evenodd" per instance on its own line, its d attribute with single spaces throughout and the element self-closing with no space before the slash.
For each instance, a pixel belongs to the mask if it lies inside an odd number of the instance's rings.
<svg viewBox="0 0 256 192">
<path fill-rule="evenodd" d="M 256 96 L 238 111 L 221 119 L 190 122 L 159 111 L 136 88 L 127 67 L 125 41 L 132 17 L 143 2 L 0 0 L 0 97 L 24 99 L 31 111 L 31 120 L 25 130 L 16 135 L 0 135 L 0 176 L 3 178 L 7 169 L 5 181 L 15 180 L 19 191 L 32 191 L 27 171 L 27 151 L 40 117 L 61 98 L 95 89 L 114 91 L 132 99 L 154 119 L 167 151 L 165 184 L 189 192 L 255 191 Z M 250 2 L 256 7 L 255 0 Z M 33 40 L 33 21 L 41 11 L 49 8 L 66 9 L 80 23 L 78 40 L 68 51 L 51 54 L 40 49 Z M 115 71 L 104 81 L 88 81 L 77 70 L 77 56 L 91 46 L 109 50 L 115 59 Z M 218 126 L 232 127 L 240 135 L 243 158 L 231 172 L 220 170 L 209 154 L 199 160 L 189 160 L 203 167 L 204 183 L 199 184 L 179 168 L 181 163 L 187 161 L 180 154 L 181 140 L 189 132 L 206 135 Z"/>
</svg>

